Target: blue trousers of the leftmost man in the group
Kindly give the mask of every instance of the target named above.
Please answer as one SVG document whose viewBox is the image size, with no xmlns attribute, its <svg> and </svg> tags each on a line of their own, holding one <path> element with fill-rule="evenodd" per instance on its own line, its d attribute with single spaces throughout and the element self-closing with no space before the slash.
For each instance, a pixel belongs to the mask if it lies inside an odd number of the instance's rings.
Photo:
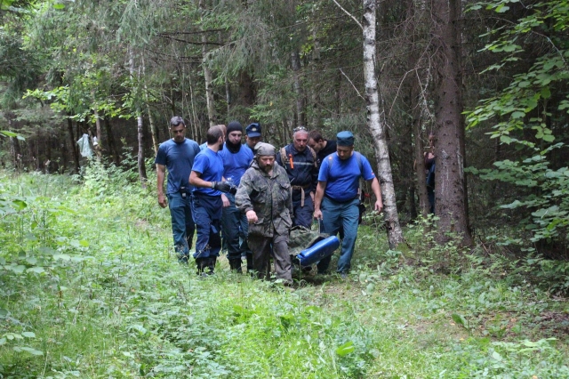
<svg viewBox="0 0 569 379">
<path fill-rule="evenodd" d="M 191 197 L 182 198 L 180 192 L 168 194 L 168 206 L 172 217 L 174 248 L 180 261 L 188 262 L 196 224 L 192 219 Z"/>
</svg>

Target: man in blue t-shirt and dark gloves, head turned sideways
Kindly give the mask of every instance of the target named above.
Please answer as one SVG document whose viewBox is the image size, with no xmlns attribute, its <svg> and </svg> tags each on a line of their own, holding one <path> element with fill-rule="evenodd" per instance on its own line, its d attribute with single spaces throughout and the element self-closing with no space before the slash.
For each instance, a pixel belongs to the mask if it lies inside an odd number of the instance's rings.
<svg viewBox="0 0 569 379">
<path fill-rule="evenodd" d="M 231 186 L 223 177 L 223 161 L 218 151 L 223 147 L 224 133 L 219 125 L 209 128 L 206 134 L 207 148 L 197 154 L 189 174 L 192 191 L 192 214 L 196 222 L 197 274 L 212 274 L 215 262 L 220 256 L 221 238 L 221 192 L 228 192 Z"/>
</svg>

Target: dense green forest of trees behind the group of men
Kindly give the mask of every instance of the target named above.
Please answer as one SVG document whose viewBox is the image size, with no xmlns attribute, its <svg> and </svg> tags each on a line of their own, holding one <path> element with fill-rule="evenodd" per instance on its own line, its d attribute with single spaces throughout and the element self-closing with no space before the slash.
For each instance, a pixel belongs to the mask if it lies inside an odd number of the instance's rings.
<svg viewBox="0 0 569 379">
<path fill-rule="evenodd" d="M 386 222 L 405 225 L 427 214 L 422 156 L 433 133 L 445 235 L 559 260 L 557 286 L 569 287 L 566 1 L 0 4 L 4 166 L 81 173 L 76 141 L 87 133 L 108 165 L 138 157 L 144 184 L 173 115 L 200 142 L 232 119 L 260 122 L 276 146 L 297 125 L 330 139 L 349 129 L 376 157 L 384 193 L 392 181 L 397 212 Z M 370 12 L 381 135 L 365 76 Z"/>
</svg>

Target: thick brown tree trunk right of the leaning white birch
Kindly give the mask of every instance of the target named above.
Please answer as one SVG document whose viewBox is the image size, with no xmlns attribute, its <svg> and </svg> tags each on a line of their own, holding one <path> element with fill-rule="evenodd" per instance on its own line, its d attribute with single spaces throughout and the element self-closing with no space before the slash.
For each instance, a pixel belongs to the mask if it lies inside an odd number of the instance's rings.
<svg viewBox="0 0 569 379">
<path fill-rule="evenodd" d="M 460 0 L 435 0 L 431 12 L 434 19 L 435 48 L 439 52 L 437 67 L 437 143 L 435 156 L 435 213 L 438 220 L 438 242 L 449 239 L 448 233 L 461 236 L 463 245 L 471 245 L 464 189 L 464 131 L 461 130 L 460 30 L 456 26 Z"/>
</svg>

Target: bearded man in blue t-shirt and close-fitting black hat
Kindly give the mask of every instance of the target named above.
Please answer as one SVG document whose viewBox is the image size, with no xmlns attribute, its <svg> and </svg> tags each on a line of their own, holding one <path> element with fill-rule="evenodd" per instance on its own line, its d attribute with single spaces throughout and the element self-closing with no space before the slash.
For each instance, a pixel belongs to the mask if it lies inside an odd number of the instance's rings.
<svg viewBox="0 0 569 379">
<path fill-rule="evenodd" d="M 223 178 L 237 188 L 245 170 L 252 162 L 252 151 L 241 144 L 243 126 L 238 121 L 231 121 L 227 127 L 227 138 L 223 149 L 219 152 L 223 161 Z M 223 218 L 221 230 L 223 240 L 228 249 L 228 261 L 231 270 L 242 272 L 241 256 L 245 254 L 247 270 L 252 270 L 252 253 L 247 245 L 247 231 L 249 224 L 247 217 L 235 206 L 235 196 L 221 194 L 223 202 Z"/>
</svg>

